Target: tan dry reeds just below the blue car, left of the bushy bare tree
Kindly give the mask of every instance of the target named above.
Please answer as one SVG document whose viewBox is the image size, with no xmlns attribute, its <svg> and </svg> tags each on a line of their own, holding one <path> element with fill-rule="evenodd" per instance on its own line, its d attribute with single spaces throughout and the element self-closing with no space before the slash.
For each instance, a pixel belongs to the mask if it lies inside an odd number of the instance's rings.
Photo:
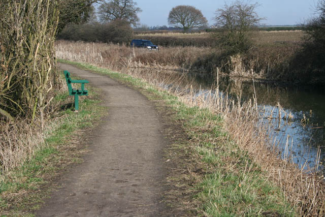
<svg viewBox="0 0 325 217">
<path fill-rule="evenodd" d="M 79 46 L 83 49 L 76 53 L 75 48 Z M 156 52 L 124 45 L 68 41 L 57 41 L 56 47 L 56 55 L 60 58 L 98 63 L 109 66 L 112 70 L 139 63 L 150 67 L 189 70 L 194 67 L 198 58 L 203 58 L 210 52 L 209 49 L 198 47 L 161 47 Z"/>
</svg>

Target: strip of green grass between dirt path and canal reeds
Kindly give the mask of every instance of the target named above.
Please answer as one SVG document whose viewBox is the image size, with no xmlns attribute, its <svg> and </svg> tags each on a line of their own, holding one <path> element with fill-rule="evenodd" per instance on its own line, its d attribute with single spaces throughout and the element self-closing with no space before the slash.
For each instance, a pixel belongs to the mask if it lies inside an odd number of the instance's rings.
<svg viewBox="0 0 325 217">
<path fill-rule="evenodd" d="M 207 216 L 296 215 L 280 188 L 222 128 L 221 115 L 197 106 L 186 106 L 169 92 L 126 74 L 88 64 L 61 62 L 131 84 L 149 99 L 162 101 L 173 111 L 169 125 L 181 126 L 182 130 L 178 129 L 175 134 L 172 130 L 169 132 L 171 138 L 178 135 L 168 158 L 181 167 L 168 177 L 176 189 L 171 193 L 173 202 L 179 204 L 172 206 L 197 209 L 199 215 Z M 184 192 L 187 197 L 182 196 Z"/>
</svg>

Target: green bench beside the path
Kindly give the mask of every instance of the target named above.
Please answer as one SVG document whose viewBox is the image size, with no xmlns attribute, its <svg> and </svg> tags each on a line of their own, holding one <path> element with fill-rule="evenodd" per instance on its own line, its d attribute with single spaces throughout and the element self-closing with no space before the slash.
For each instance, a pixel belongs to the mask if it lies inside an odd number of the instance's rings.
<svg viewBox="0 0 325 217">
<path fill-rule="evenodd" d="M 75 96 L 75 110 L 79 110 L 79 96 L 88 96 L 88 90 L 85 88 L 85 84 L 89 83 L 87 80 L 72 80 L 70 73 L 64 71 L 64 77 L 66 77 L 69 95 Z M 73 88 L 71 84 L 81 84 L 81 89 Z"/>
</svg>

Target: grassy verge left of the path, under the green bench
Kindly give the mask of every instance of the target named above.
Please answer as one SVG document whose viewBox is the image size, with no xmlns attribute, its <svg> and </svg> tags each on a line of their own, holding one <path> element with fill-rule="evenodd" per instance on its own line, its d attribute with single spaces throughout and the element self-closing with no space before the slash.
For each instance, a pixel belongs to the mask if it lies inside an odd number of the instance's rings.
<svg viewBox="0 0 325 217">
<path fill-rule="evenodd" d="M 65 85 L 65 84 L 64 84 Z M 87 86 L 89 96 L 80 98 L 80 111 L 73 111 L 68 91 L 52 101 L 55 111 L 49 116 L 44 142 L 20 167 L 2 174 L 0 216 L 34 216 L 42 200 L 53 189 L 52 180 L 69 164 L 81 162 L 86 151 L 86 131 L 93 128 L 106 109 L 100 106 L 100 90 Z"/>
</svg>

